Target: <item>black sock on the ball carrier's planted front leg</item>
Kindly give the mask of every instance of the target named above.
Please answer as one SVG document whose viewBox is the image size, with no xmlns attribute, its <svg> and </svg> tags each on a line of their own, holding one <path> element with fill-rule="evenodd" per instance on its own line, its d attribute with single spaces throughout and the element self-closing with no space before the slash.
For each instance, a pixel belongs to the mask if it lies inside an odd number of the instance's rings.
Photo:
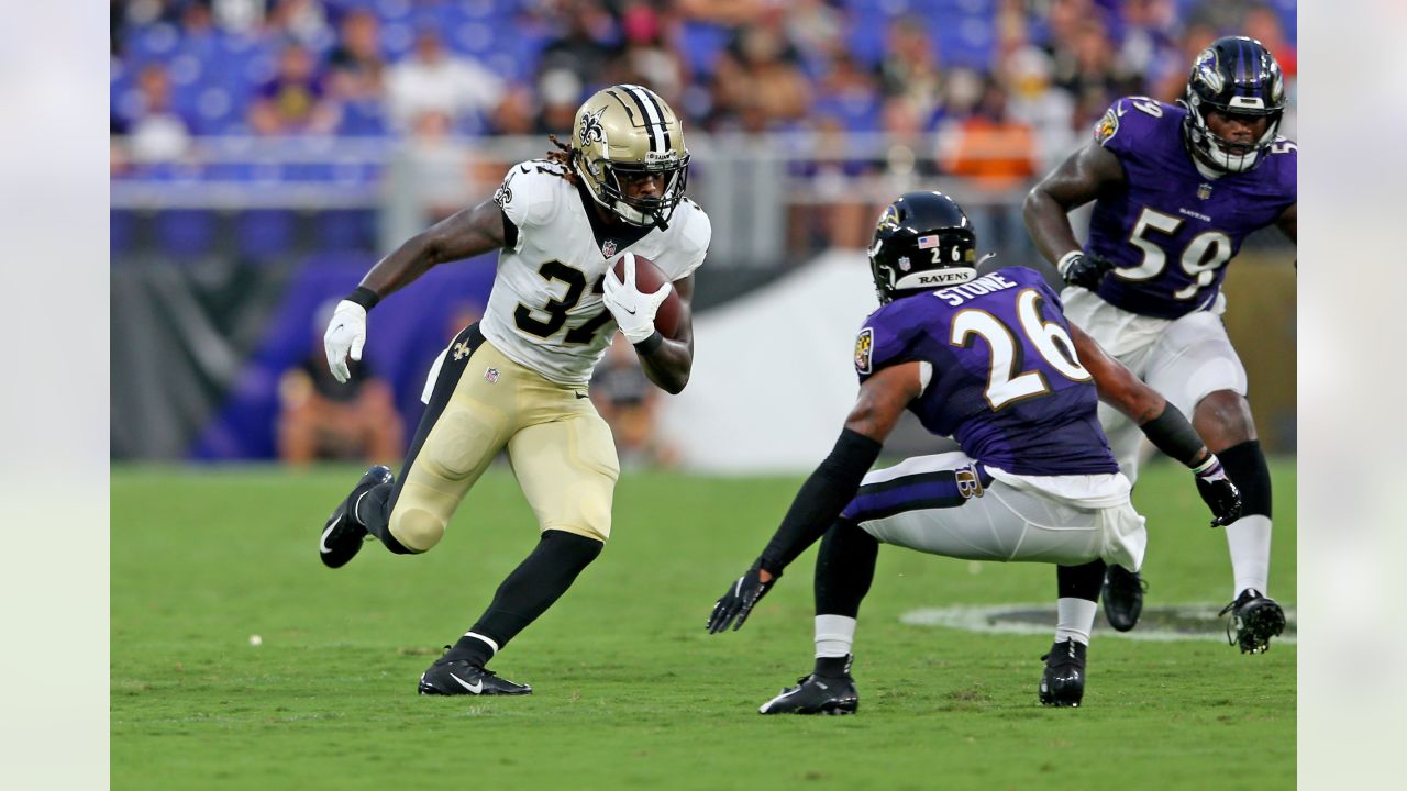
<svg viewBox="0 0 1407 791">
<path fill-rule="evenodd" d="M 498 586 L 492 604 L 470 629 L 498 643 L 502 650 L 539 615 L 567 593 L 577 574 L 601 555 L 602 543 L 564 531 L 543 531 L 532 553 Z M 492 649 L 484 640 L 464 636 L 447 659 L 488 662 Z"/>
</svg>

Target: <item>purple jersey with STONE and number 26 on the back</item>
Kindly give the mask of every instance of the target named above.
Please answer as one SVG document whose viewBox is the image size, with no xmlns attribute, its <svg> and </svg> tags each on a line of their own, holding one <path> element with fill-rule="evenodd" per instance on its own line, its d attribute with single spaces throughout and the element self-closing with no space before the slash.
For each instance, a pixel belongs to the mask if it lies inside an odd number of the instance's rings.
<svg viewBox="0 0 1407 791">
<path fill-rule="evenodd" d="M 1023 476 L 1119 472 L 1059 296 L 1038 273 L 1007 266 L 865 319 L 855 339 L 861 383 L 915 360 L 930 363 L 933 377 L 909 411 L 972 459 Z"/>
</svg>

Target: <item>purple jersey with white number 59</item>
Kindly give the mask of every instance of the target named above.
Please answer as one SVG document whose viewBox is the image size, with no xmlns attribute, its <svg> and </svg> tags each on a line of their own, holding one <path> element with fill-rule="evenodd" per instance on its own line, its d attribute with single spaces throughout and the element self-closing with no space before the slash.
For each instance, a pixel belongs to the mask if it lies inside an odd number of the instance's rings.
<svg viewBox="0 0 1407 791">
<path fill-rule="evenodd" d="M 1095 201 L 1085 252 L 1117 266 L 1099 286 L 1126 311 L 1178 318 L 1211 305 L 1225 263 L 1296 203 L 1297 148 L 1278 138 L 1245 173 L 1207 179 L 1182 139 L 1182 107 L 1133 96 L 1095 125 L 1124 189 Z"/>
</svg>

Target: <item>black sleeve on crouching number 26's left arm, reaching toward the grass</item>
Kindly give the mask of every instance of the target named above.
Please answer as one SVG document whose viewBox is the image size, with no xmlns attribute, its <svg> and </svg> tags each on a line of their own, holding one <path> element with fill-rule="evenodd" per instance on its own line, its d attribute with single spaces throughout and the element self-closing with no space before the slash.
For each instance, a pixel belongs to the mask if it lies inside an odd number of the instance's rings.
<svg viewBox="0 0 1407 791">
<path fill-rule="evenodd" d="M 826 535 L 836 517 L 854 498 L 860 481 L 879 457 L 881 448 L 884 443 L 860 432 L 848 428 L 841 431 L 830 456 L 826 456 L 796 493 L 782 525 L 777 528 L 757 564 L 771 574 L 781 574 L 788 563 Z"/>
</svg>

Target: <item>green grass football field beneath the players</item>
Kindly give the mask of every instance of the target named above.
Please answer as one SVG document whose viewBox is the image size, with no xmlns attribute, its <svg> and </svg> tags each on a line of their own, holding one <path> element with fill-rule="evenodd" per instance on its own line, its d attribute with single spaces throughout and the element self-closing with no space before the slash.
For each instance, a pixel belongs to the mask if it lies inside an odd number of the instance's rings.
<svg viewBox="0 0 1407 791">
<path fill-rule="evenodd" d="M 1271 586 L 1293 604 L 1294 466 L 1273 472 Z M 1041 564 L 885 548 L 857 635 L 860 714 L 758 716 L 809 671 L 815 550 L 741 632 L 711 636 L 704 622 L 799 479 L 628 472 L 605 553 L 494 662 L 535 692 L 421 698 L 419 673 L 536 528 L 494 469 L 433 552 L 369 545 L 331 571 L 317 536 L 357 473 L 114 469 L 114 788 L 1294 784 L 1293 645 L 1241 656 L 1096 632 L 1085 707 L 1044 709 L 1048 635 L 899 622 L 920 607 L 1052 601 Z M 1230 598 L 1225 539 L 1186 473 L 1151 467 L 1135 501 L 1151 531 L 1148 605 Z"/>
</svg>

